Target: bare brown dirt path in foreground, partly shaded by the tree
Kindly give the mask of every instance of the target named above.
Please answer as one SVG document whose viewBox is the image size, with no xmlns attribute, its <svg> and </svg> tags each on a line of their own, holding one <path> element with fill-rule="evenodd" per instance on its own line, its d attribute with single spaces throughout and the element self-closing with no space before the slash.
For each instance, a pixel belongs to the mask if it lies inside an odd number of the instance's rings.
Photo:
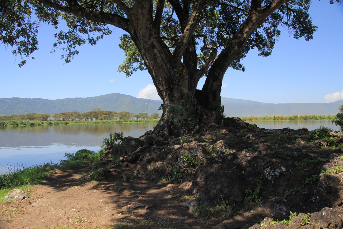
<svg viewBox="0 0 343 229">
<path fill-rule="evenodd" d="M 120 176 L 80 184 L 79 178 L 75 171 L 54 172 L 51 179 L 34 186 L 28 199 L 0 205 L 0 228 L 108 228 L 118 223 L 127 228 L 211 228 L 216 224 L 192 218 L 179 205 L 184 191 L 177 184 L 122 182 Z"/>
</svg>

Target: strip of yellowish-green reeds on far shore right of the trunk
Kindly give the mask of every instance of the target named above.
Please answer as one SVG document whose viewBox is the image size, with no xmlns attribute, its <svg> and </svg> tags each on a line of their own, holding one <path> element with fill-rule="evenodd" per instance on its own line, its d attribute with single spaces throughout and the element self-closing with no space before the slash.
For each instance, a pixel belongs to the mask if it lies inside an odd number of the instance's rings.
<svg viewBox="0 0 343 229">
<path fill-rule="evenodd" d="M 332 120 L 335 115 L 273 115 L 273 116 L 243 116 L 243 121 L 275 121 L 275 120 Z"/>
</svg>

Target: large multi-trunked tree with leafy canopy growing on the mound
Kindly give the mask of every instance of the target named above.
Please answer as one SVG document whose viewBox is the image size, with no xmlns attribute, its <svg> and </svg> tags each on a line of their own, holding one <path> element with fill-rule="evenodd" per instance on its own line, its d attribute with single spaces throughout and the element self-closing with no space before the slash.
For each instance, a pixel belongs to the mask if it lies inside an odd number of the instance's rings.
<svg viewBox="0 0 343 229">
<path fill-rule="evenodd" d="M 244 71 L 240 60 L 251 48 L 271 54 L 279 26 L 296 39 L 313 38 L 317 27 L 309 5 L 310 0 L 3 0 L 0 39 L 22 56 L 21 66 L 37 50 L 39 22 L 57 28 L 63 21 L 69 31 L 56 34 L 54 47 L 69 62 L 78 45 L 94 45 L 113 26 L 121 28 L 126 59 L 118 70 L 130 76 L 146 69 L 163 100 L 159 124 L 190 129 L 206 112 L 221 110 L 227 68 Z M 206 80 L 197 90 L 201 77 Z"/>
</svg>

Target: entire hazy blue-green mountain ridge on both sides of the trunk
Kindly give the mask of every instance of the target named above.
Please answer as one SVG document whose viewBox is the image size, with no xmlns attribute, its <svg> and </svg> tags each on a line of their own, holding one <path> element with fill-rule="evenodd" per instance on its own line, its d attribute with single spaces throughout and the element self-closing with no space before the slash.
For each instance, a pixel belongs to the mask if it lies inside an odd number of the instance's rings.
<svg viewBox="0 0 343 229">
<path fill-rule="evenodd" d="M 129 111 L 132 113 L 160 113 L 162 100 L 135 98 L 131 95 L 111 93 L 87 98 L 42 99 L 2 98 L 0 116 L 11 114 L 44 113 L 55 114 L 69 111 L 86 112 L 96 108 L 104 111 Z M 343 100 L 331 103 L 264 103 L 252 100 L 222 97 L 224 114 L 227 117 L 271 116 L 271 115 L 335 115 Z"/>
</svg>

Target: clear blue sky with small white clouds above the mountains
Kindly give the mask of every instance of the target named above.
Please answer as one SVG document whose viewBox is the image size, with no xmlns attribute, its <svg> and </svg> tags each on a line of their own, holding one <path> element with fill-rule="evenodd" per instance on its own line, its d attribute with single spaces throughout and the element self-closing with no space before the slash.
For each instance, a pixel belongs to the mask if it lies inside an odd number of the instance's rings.
<svg viewBox="0 0 343 229">
<path fill-rule="evenodd" d="M 245 72 L 228 69 L 223 80 L 222 96 L 266 103 L 324 103 L 343 99 L 342 54 L 343 4 L 313 1 L 310 15 L 318 31 L 309 42 L 295 40 L 286 30 L 269 57 L 251 50 L 242 61 Z M 84 45 L 69 64 L 63 65 L 61 52 L 50 54 L 55 29 L 40 26 L 39 50 L 19 68 L 11 50 L 0 48 L 0 98 L 64 99 L 91 97 L 109 93 L 134 97 L 150 96 L 153 90 L 147 71 L 129 78 L 118 73 L 125 58 L 118 48 L 116 29 L 97 45 Z M 204 79 L 199 82 L 202 87 Z M 156 98 L 157 99 L 157 98 Z"/>
</svg>

